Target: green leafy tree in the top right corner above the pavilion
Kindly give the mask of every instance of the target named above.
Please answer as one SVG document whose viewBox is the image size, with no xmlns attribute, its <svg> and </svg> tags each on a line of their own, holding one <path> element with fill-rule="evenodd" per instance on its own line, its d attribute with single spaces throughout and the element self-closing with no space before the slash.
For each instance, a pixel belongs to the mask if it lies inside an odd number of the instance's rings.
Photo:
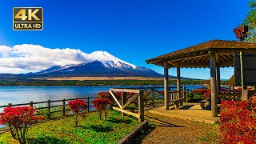
<svg viewBox="0 0 256 144">
<path fill-rule="evenodd" d="M 249 2 L 250 11 L 241 26 L 248 26 L 249 32 L 246 42 L 256 42 L 256 1 Z"/>
</svg>

